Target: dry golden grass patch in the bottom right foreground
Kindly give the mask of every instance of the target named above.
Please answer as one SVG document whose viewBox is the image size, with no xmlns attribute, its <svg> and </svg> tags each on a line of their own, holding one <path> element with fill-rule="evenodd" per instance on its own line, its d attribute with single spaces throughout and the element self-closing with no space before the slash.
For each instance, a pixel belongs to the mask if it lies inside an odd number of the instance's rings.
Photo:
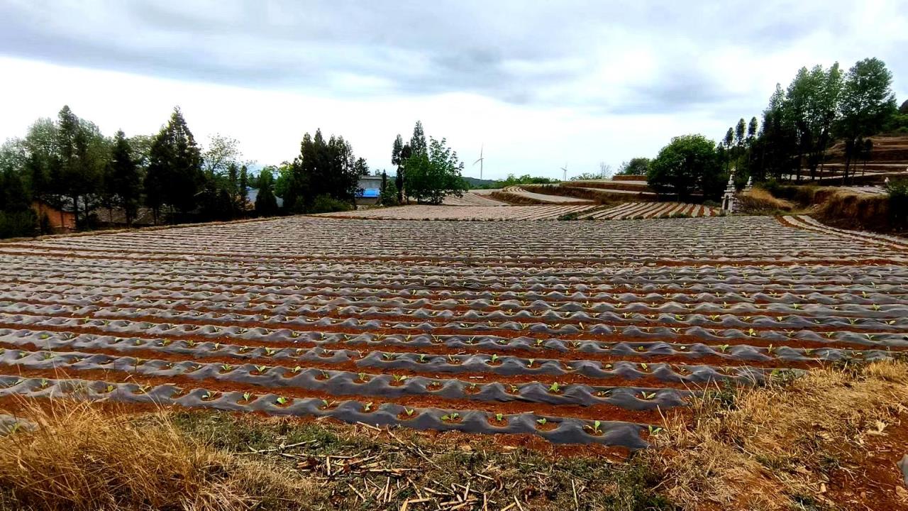
<svg viewBox="0 0 908 511">
<path fill-rule="evenodd" d="M 697 400 L 693 421 L 667 416 L 666 433 L 644 456 L 685 509 L 790 509 L 797 496 L 822 499 L 823 464 L 860 446 L 905 403 L 903 362 L 817 369 L 789 385 Z"/>
</svg>

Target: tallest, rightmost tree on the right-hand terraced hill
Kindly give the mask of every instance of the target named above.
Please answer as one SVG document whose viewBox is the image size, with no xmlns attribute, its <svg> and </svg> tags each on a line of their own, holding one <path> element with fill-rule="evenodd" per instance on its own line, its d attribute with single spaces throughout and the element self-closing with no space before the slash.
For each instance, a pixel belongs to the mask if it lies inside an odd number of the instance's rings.
<svg viewBox="0 0 908 511">
<path fill-rule="evenodd" d="M 848 70 L 838 124 L 838 132 L 845 139 L 843 181 L 848 179 L 852 159 L 862 147 L 860 140 L 877 133 L 894 114 L 896 103 L 892 84 L 893 74 L 877 58 L 865 58 Z"/>
</svg>

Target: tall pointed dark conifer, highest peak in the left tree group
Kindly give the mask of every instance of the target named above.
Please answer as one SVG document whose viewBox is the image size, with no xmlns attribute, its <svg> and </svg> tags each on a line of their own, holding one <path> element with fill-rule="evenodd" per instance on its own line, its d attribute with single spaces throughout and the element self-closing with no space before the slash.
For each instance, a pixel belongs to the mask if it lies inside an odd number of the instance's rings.
<svg viewBox="0 0 908 511">
<path fill-rule="evenodd" d="M 202 152 L 183 113 L 175 107 L 167 125 L 152 143 L 145 176 L 147 204 L 154 210 L 155 218 L 163 204 L 188 213 L 196 207 L 196 195 L 203 184 Z"/>
</svg>

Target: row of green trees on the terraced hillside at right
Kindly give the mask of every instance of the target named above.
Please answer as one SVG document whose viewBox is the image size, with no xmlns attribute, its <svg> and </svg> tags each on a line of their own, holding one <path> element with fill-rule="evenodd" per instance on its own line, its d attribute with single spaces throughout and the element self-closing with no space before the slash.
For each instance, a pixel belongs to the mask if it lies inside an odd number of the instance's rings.
<svg viewBox="0 0 908 511">
<path fill-rule="evenodd" d="M 657 192 L 686 200 L 716 200 L 732 169 L 738 185 L 803 177 L 815 179 L 836 142 L 844 145 L 842 178 L 870 156 L 872 135 L 908 134 L 908 101 L 896 107 L 893 75 L 866 58 L 844 72 L 836 63 L 802 67 L 787 88 L 776 85 L 761 115 L 729 127 L 718 143 L 704 135 L 676 136 L 652 160 L 634 158 L 618 175 L 646 175 Z"/>
</svg>

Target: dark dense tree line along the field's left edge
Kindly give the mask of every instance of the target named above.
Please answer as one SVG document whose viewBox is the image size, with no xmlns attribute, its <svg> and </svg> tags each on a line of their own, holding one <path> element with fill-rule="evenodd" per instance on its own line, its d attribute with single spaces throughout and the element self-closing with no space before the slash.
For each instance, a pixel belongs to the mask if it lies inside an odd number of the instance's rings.
<svg viewBox="0 0 908 511">
<path fill-rule="evenodd" d="M 321 131 L 304 135 L 291 163 L 258 175 L 250 163 L 232 138 L 199 145 L 179 107 L 155 135 L 106 137 L 64 106 L 55 120 L 38 119 L 24 138 L 0 146 L 0 237 L 50 233 L 65 214 L 76 229 L 90 229 L 132 226 L 143 210 L 158 224 L 350 209 L 359 176 L 369 173 L 349 142 Z"/>
</svg>

